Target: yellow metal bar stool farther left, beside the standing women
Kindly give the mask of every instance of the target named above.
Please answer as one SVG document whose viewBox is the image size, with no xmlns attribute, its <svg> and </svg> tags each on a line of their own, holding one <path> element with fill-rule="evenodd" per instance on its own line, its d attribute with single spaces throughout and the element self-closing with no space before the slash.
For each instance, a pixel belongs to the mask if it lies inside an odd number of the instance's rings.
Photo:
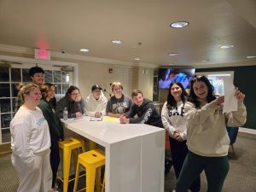
<svg viewBox="0 0 256 192">
<path fill-rule="evenodd" d="M 63 178 L 60 178 L 60 179 L 63 182 L 63 192 L 67 192 L 68 183 L 74 180 L 74 179 L 69 180 L 71 153 L 73 153 L 73 164 L 74 164 L 74 167 L 76 167 L 77 160 L 78 160 L 78 149 L 82 148 L 83 153 L 85 151 L 84 140 L 79 138 L 74 138 L 74 137 L 67 137 L 63 141 L 59 142 L 59 148 L 61 148 L 63 151 L 63 162 L 62 162 Z"/>
</svg>

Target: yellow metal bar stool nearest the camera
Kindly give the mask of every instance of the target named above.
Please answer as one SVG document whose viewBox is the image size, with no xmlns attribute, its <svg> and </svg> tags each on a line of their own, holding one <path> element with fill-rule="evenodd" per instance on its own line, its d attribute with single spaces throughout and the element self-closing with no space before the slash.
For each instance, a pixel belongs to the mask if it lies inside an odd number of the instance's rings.
<svg viewBox="0 0 256 192">
<path fill-rule="evenodd" d="M 86 192 L 94 192 L 96 185 L 96 191 L 100 191 L 101 188 L 101 166 L 105 165 L 105 155 L 102 150 L 94 149 L 87 151 L 83 154 L 79 154 L 79 160 L 76 170 L 76 177 L 73 192 L 77 192 L 79 183 L 79 168 L 84 166 L 86 172 Z M 104 186 L 102 186 L 103 190 Z M 79 191 L 84 189 L 79 189 Z"/>
</svg>

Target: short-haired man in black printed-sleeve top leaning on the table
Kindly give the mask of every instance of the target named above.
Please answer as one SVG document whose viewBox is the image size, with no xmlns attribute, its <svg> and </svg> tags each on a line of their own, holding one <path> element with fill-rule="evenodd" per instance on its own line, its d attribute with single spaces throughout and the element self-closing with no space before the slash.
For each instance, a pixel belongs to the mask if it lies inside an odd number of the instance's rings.
<svg viewBox="0 0 256 192">
<path fill-rule="evenodd" d="M 141 90 L 133 90 L 131 93 L 133 104 L 128 116 L 125 115 L 119 118 L 122 124 L 148 124 L 163 128 L 161 116 L 154 108 L 153 102 L 143 97 Z M 137 114 L 137 118 L 134 116 Z"/>
</svg>

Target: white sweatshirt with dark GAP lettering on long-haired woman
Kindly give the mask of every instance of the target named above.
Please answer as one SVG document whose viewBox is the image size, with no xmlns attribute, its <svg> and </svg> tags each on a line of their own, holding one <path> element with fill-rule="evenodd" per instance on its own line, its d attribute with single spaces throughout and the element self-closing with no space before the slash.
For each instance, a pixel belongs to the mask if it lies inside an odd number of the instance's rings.
<svg viewBox="0 0 256 192">
<path fill-rule="evenodd" d="M 168 109 L 165 102 L 161 118 L 165 129 L 169 132 L 170 137 L 174 137 L 174 132 L 178 132 L 183 140 L 187 139 L 187 121 L 184 117 L 184 104 L 182 101 L 177 102 L 177 108 Z"/>
</svg>

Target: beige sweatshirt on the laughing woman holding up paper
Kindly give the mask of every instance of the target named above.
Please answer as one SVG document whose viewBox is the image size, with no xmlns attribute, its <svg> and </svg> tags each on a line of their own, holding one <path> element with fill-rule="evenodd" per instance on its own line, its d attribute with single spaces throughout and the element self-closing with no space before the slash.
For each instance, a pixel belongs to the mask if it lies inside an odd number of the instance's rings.
<svg viewBox="0 0 256 192">
<path fill-rule="evenodd" d="M 225 156 L 230 148 L 230 138 L 226 126 L 244 125 L 247 111 L 243 103 L 238 110 L 223 113 L 223 107 L 215 102 L 201 101 L 200 108 L 191 102 L 185 104 L 185 117 L 188 121 L 187 145 L 191 152 L 202 156 Z"/>
</svg>

